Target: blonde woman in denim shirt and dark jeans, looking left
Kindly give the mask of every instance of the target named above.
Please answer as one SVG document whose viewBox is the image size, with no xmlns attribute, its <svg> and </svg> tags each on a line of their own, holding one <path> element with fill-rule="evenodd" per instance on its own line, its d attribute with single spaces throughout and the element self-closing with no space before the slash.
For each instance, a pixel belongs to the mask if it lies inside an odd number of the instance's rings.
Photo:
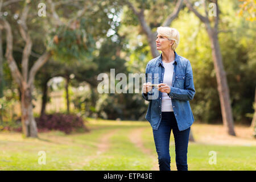
<svg viewBox="0 0 256 182">
<path fill-rule="evenodd" d="M 153 130 L 160 171 L 170 171 L 170 135 L 174 133 L 177 170 L 188 170 L 190 126 L 194 122 L 189 101 L 195 96 L 189 60 L 177 55 L 179 32 L 158 27 L 156 49 L 161 55 L 148 62 L 142 96 L 150 101 L 146 114 Z M 152 86 L 151 84 L 158 84 Z"/>
</svg>

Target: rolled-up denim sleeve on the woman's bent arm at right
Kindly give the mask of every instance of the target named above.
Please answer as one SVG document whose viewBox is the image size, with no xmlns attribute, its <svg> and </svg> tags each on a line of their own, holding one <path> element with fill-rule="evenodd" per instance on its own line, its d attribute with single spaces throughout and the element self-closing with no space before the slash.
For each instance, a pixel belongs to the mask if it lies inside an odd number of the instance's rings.
<svg viewBox="0 0 256 182">
<path fill-rule="evenodd" d="M 191 101 L 195 96 L 196 90 L 193 82 L 193 72 L 191 63 L 188 60 L 186 73 L 185 73 L 185 89 L 179 89 L 171 86 L 171 92 L 168 93 L 168 96 L 183 101 Z"/>
</svg>

